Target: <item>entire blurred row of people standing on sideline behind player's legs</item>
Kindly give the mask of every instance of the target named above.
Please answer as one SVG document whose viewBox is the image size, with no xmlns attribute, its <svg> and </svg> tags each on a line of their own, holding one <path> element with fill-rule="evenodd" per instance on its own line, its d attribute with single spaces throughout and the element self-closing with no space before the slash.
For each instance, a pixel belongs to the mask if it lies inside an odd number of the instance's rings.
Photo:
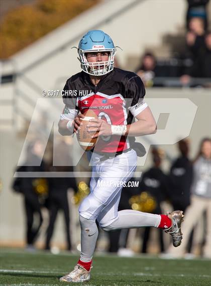
<svg viewBox="0 0 211 286">
<path fill-rule="evenodd" d="M 35 177 L 17 177 L 13 182 L 13 189 L 21 193 L 24 199 L 26 216 L 26 249 L 34 250 L 35 243 L 40 234 L 43 224 L 42 210 L 48 212 L 47 228 L 44 242 L 44 249 L 50 250 L 51 239 L 55 221 L 59 211 L 63 213 L 66 249 L 74 250 L 71 243 L 70 210 L 73 204 L 79 204 L 84 196 L 88 194 L 88 182 L 76 181 L 74 177 L 68 176 L 73 171 L 71 157 L 68 155 L 69 146 L 61 141 L 59 146 L 60 159 L 67 166 L 53 166 L 53 160 L 44 160 L 43 143 L 40 139 L 32 141 L 28 145 L 25 163 L 17 169 L 19 172 L 36 172 Z M 133 178 L 131 181 L 138 182 L 125 187 L 122 190 L 122 197 L 119 210 L 134 209 L 153 214 L 164 213 L 167 208 L 170 210 L 182 210 L 185 214 L 185 222 L 182 225 L 184 234 L 183 243 L 177 249 L 170 247 L 163 236 L 164 232 L 156 229 L 157 252 L 169 256 L 193 255 L 195 250 L 192 247 L 195 237 L 199 236 L 197 254 L 204 257 L 211 257 L 211 140 L 204 138 L 198 149 L 195 159 L 189 158 L 190 142 L 184 139 L 178 142 L 179 156 L 171 162 L 168 172 L 164 172 L 162 161 L 165 154 L 162 150 L 154 147 L 151 150 L 152 166 L 145 170 L 140 178 Z M 63 158 L 63 159 L 62 159 Z M 57 162 L 58 164 L 58 162 Z M 50 175 L 42 177 L 43 172 Z M 68 172 L 68 173 L 67 173 Z M 21 173 L 20 173 L 21 174 Z M 60 175 L 59 175 L 60 174 Z M 86 186 L 86 187 L 84 187 Z M 73 190 L 73 200 L 68 200 L 68 190 Z M 170 211 L 169 210 L 169 211 Z M 197 227 L 200 224 L 202 227 Z M 199 230 L 198 230 L 199 229 Z M 118 230 L 114 232 L 100 232 L 100 237 L 107 236 L 107 247 L 109 252 L 117 252 L 119 255 L 133 255 L 133 241 L 137 235 L 140 241 L 139 251 L 149 252 L 152 228 L 135 230 Z M 198 234 L 200 232 L 200 234 Z M 99 249 L 100 250 L 100 247 Z M 193 251 L 194 250 L 194 251 Z M 164 254 L 165 253 L 165 254 Z"/>
</svg>

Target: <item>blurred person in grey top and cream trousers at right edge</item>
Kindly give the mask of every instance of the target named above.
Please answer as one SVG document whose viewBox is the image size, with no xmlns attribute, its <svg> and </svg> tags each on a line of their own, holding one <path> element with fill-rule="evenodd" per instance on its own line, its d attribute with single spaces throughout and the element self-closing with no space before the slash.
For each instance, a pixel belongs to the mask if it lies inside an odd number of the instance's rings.
<svg viewBox="0 0 211 286">
<path fill-rule="evenodd" d="M 201 141 L 200 149 L 193 163 L 193 184 L 191 205 L 185 213 L 185 220 L 182 227 L 183 241 L 175 251 L 172 247 L 168 253 L 174 257 L 181 257 L 188 242 L 192 228 L 197 224 L 199 218 L 206 211 L 206 237 L 203 249 L 203 256 L 211 258 L 211 140 L 204 138 Z"/>
</svg>

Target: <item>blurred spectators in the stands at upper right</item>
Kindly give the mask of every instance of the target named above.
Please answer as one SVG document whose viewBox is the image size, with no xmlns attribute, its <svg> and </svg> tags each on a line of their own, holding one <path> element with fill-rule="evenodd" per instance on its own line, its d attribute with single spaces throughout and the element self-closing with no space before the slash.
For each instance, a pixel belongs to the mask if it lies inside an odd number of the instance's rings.
<svg viewBox="0 0 211 286">
<path fill-rule="evenodd" d="M 156 58 L 146 51 L 135 72 L 146 87 L 164 86 L 163 77 L 178 78 L 172 85 L 191 87 L 211 85 L 211 31 L 208 30 L 207 4 L 209 0 L 186 0 L 185 44 L 180 51 L 173 51 L 172 57 Z M 182 50 L 182 52 L 181 52 Z M 201 79 L 205 80 L 201 80 Z"/>
</svg>

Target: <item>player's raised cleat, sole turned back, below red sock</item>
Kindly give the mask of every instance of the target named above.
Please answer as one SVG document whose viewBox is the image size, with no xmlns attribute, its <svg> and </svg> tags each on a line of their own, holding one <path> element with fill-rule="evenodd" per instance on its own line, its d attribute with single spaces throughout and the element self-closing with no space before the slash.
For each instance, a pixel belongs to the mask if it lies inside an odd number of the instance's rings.
<svg viewBox="0 0 211 286">
<path fill-rule="evenodd" d="M 166 229 L 165 232 L 171 235 L 173 246 L 177 247 L 182 241 L 181 223 L 183 222 L 184 215 L 182 211 L 174 211 L 167 213 L 167 216 L 171 219 L 172 226 Z"/>
</svg>

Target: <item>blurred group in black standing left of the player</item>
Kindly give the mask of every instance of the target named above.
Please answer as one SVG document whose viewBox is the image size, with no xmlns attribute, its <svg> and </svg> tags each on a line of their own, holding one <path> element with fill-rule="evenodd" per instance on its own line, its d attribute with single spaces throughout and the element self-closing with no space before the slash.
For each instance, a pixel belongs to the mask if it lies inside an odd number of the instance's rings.
<svg viewBox="0 0 211 286">
<path fill-rule="evenodd" d="M 44 249 L 50 250 L 50 241 L 53 235 L 55 221 L 59 211 L 63 212 L 66 249 L 71 250 L 70 239 L 70 214 L 68 203 L 68 189 L 76 192 L 77 185 L 74 177 L 65 176 L 65 173 L 72 172 L 72 160 L 69 155 L 69 145 L 61 140 L 55 147 L 54 152 L 51 140 L 47 146 L 47 156 L 43 157 L 44 143 L 42 139 L 33 139 L 27 147 L 26 159 L 22 166 L 17 168 L 19 176 L 14 179 L 13 189 L 23 195 L 24 210 L 26 217 L 26 248 L 34 250 L 34 244 L 38 239 L 40 228 L 43 224 L 42 209 L 48 210 L 48 227 Z M 59 156 L 56 158 L 56 156 Z M 64 166 L 63 166 L 64 165 Z M 43 176 L 44 172 L 50 173 L 48 177 Z M 27 173 L 29 175 L 27 175 Z M 25 174 L 22 176 L 22 174 Z M 59 175 L 60 174 L 60 175 Z"/>
</svg>

